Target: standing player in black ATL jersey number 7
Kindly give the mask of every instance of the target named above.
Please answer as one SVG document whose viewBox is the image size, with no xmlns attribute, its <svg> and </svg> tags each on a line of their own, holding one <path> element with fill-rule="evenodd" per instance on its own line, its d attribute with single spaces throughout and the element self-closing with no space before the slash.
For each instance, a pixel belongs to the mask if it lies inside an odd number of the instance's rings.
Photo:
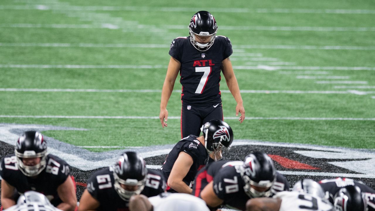
<svg viewBox="0 0 375 211">
<path fill-rule="evenodd" d="M 236 116 L 245 119 L 245 109 L 229 56 L 233 53 L 231 41 L 225 36 L 216 36 L 216 20 L 207 11 L 193 15 L 188 37 L 175 38 L 169 49 L 168 69 L 160 102 L 160 122 L 167 127 L 166 106 L 174 82 L 180 72 L 182 85 L 181 138 L 193 134 L 199 136 L 199 127 L 211 119 L 223 120 L 220 72 L 225 77 L 229 91 L 237 102 Z"/>
</svg>

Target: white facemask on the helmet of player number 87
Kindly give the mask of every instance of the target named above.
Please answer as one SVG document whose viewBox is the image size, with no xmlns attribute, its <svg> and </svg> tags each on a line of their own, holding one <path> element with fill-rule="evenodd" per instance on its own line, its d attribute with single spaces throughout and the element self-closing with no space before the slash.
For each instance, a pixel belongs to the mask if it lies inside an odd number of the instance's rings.
<svg viewBox="0 0 375 211">
<path fill-rule="evenodd" d="M 15 150 L 15 154 L 17 157 L 18 169 L 20 169 L 20 171 L 26 176 L 39 175 L 39 173 L 46 167 L 46 151 L 39 153 L 35 153 L 35 151 L 25 151 L 24 153 L 19 153 Z M 28 166 L 23 163 L 23 158 L 40 158 L 40 162 L 33 166 Z"/>
</svg>

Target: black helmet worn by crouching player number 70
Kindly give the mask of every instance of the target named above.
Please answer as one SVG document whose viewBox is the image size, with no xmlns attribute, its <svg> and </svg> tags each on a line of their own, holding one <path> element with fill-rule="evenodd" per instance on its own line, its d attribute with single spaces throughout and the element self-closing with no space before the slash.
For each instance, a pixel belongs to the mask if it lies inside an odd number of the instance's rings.
<svg viewBox="0 0 375 211">
<path fill-rule="evenodd" d="M 253 152 L 245 157 L 240 174 L 245 182 L 243 189 L 249 197 L 269 197 L 276 181 L 276 169 L 271 158 L 263 152 Z M 254 187 L 267 188 L 257 191 Z"/>
</svg>

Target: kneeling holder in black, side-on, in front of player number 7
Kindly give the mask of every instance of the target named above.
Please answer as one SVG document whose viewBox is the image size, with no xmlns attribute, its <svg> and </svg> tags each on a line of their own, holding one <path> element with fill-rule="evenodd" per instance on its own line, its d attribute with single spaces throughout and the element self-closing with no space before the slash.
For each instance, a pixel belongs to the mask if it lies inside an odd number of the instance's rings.
<svg viewBox="0 0 375 211">
<path fill-rule="evenodd" d="M 230 148 L 233 131 L 221 120 L 211 120 L 201 127 L 202 136 L 181 139 L 169 152 L 162 166 L 169 192 L 192 193 L 191 182 L 209 159 L 220 160 L 221 149 Z M 208 158 L 210 157 L 210 158 Z"/>
</svg>

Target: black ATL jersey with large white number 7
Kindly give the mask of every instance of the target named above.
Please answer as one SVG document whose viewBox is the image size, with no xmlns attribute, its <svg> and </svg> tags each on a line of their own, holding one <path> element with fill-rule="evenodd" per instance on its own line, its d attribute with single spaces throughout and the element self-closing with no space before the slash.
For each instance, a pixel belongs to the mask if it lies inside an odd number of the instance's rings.
<svg viewBox="0 0 375 211">
<path fill-rule="evenodd" d="M 231 41 L 225 36 L 216 36 L 207 51 L 198 51 L 191 44 L 190 36 L 175 38 L 169 55 L 181 63 L 181 99 L 192 104 L 221 102 L 220 67 L 232 53 Z"/>
</svg>

